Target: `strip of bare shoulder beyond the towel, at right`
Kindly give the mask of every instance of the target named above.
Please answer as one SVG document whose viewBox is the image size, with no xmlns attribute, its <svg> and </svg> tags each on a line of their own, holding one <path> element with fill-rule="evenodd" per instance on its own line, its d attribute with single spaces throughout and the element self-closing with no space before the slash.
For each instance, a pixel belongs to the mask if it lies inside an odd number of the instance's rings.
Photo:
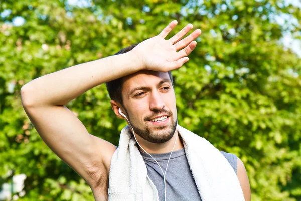
<svg viewBox="0 0 301 201">
<path fill-rule="evenodd" d="M 237 157 L 237 177 L 243 191 L 243 196 L 246 201 L 251 200 L 250 182 L 247 175 L 246 168 L 240 158 Z"/>
</svg>

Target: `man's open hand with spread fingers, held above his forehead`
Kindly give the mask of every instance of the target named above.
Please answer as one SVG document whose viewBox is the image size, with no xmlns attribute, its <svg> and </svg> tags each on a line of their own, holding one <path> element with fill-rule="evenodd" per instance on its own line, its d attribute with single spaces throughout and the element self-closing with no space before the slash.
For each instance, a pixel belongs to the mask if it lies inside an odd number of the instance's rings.
<svg viewBox="0 0 301 201">
<path fill-rule="evenodd" d="M 176 20 L 172 21 L 158 36 L 141 42 L 132 50 L 140 61 L 141 70 L 168 72 L 189 61 L 187 56 L 195 49 L 197 42 L 194 40 L 201 30 L 197 29 L 182 39 L 193 28 L 192 24 L 188 24 L 172 38 L 165 40 L 177 23 Z"/>
</svg>

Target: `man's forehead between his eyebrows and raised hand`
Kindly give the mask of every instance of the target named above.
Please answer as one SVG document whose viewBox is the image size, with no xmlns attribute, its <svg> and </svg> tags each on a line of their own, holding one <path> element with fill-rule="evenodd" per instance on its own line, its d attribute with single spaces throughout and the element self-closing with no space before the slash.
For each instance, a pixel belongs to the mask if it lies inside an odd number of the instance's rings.
<svg viewBox="0 0 301 201">
<path fill-rule="evenodd" d="M 152 87 L 156 86 L 163 79 L 169 79 L 167 72 L 157 72 L 150 70 L 141 70 L 134 74 L 122 78 L 123 92 L 130 91 L 135 87 Z"/>
</svg>

